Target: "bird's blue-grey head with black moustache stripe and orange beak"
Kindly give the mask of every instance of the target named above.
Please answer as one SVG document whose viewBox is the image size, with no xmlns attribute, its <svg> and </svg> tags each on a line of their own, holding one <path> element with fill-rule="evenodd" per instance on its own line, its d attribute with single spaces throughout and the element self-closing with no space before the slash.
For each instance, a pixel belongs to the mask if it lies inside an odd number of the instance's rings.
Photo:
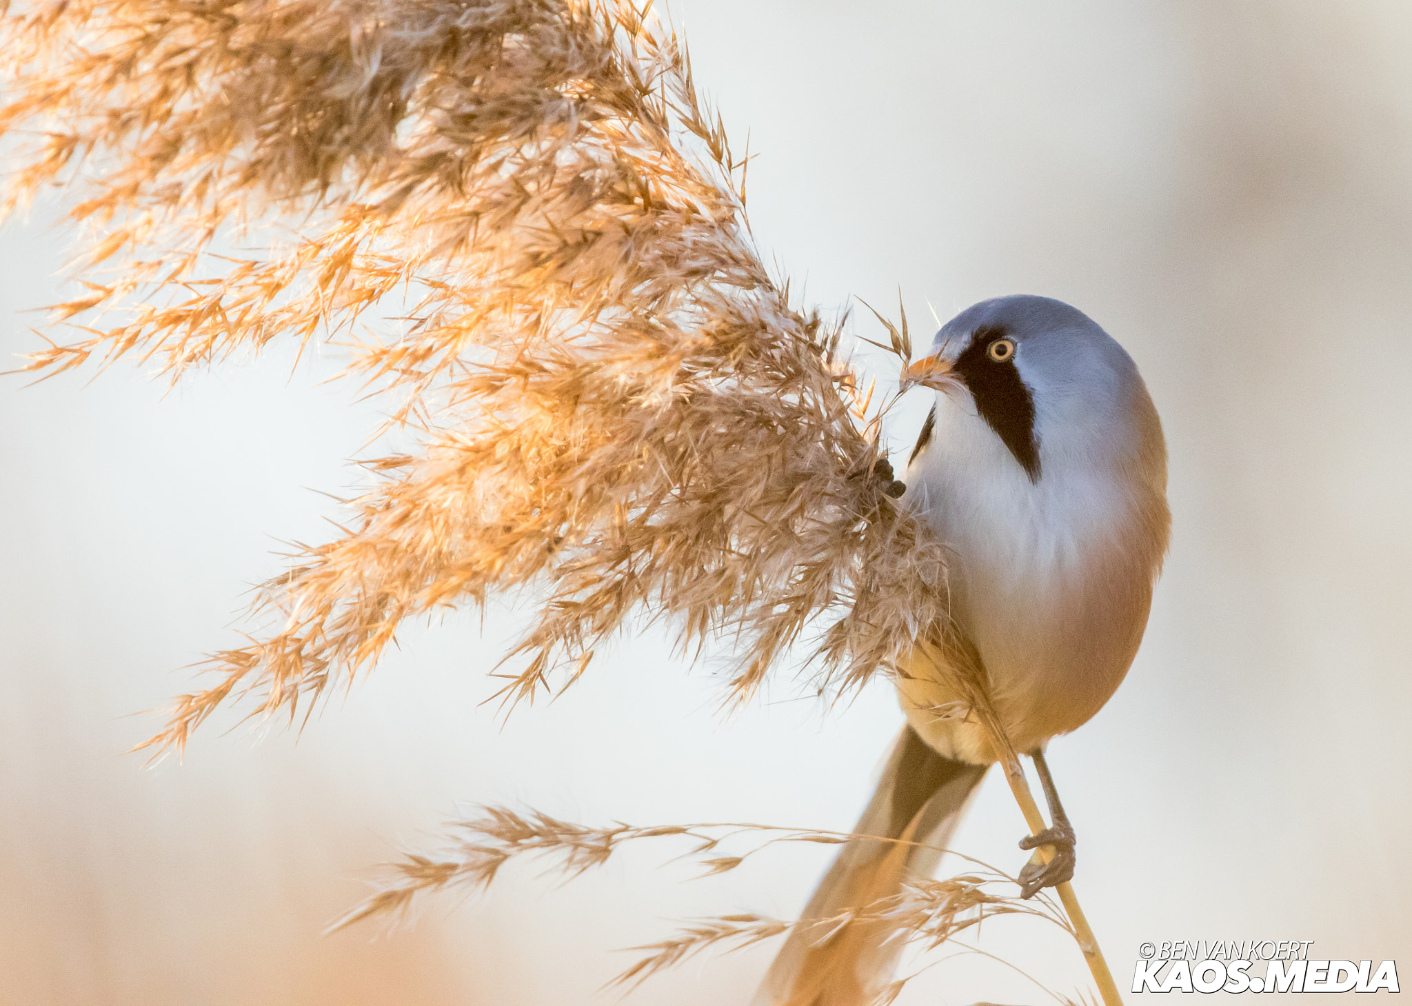
<svg viewBox="0 0 1412 1006">
<path fill-rule="evenodd" d="M 971 404 L 1031 482 L 1052 465 L 1135 465 L 1152 476 L 1159 466 L 1165 483 L 1161 424 L 1132 357 L 1063 301 L 997 297 L 966 308 L 902 383 Z"/>
</svg>

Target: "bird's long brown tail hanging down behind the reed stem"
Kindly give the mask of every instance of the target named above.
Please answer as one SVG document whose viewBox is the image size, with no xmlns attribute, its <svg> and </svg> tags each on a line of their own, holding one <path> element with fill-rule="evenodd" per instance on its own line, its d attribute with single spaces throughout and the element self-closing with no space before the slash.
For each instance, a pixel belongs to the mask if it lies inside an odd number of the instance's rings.
<svg viewBox="0 0 1412 1006">
<path fill-rule="evenodd" d="M 904 726 L 854 832 L 943 846 L 984 774 L 984 766 L 943 757 Z M 932 848 L 849 839 L 770 966 L 753 1006 L 871 1003 L 891 982 L 902 941 L 875 920 L 837 920 L 898 894 L 909 873 L 929 876 L 940 855 Z"/>
</svg>

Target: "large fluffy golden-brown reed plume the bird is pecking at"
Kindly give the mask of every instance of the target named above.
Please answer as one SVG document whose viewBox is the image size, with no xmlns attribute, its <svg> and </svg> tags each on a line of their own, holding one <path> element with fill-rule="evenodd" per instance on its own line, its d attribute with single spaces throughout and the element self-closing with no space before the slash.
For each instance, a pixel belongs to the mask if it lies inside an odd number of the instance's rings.
<svg viewBox="0 0 1412 1006">
<path fill-rule="evenodd" d="M 510 701 L 634 613 L 686 653 L 731 639 L 736 697 L 803 636 L 849 685 L 945 622 L 842 322 L 764 267 L 743 161 L 645 7 L 73 0 L 3 25 L 6 208 L 64 185 L 89 235 L 52 309 L 78 338 L 27 369 L 175 379 L 337 341 L 417 442 L 263 586 L 271 629 L 212 656 L 158 750 L 234 697 L 306 715 L 405 619 L 522 588 Z"/>
</svg>

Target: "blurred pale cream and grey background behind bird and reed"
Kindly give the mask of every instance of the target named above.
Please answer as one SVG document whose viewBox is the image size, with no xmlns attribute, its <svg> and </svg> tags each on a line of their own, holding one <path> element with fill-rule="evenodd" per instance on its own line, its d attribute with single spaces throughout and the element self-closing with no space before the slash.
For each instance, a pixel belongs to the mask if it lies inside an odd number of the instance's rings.
<svg viewBox="0 0 1412 1006">
<path fill-rule="evenodd" d="M 868 13 L 861 13 L 863 10 Z M 755 235 L 810 300 L 931 328 L 1043 292 L 1142 367 L 1172 454 L 1175 544 L 1128 682 L 1052 746 L 1077 886 L 1120 985 L 1152 940 L 1313 940 L 1412 976 L 1412 8 L 1388 3 L 678 0 L 699 79 L 750 136 Z M 3 235 L 4 348 L 56 300 L 52 208 Z M 860 319 L 860 331 L 874 335 Z M 169 394 L 119 366 L 0 384 L 0 1002 L 236 1006 L 616 1002 L 674 920 L 789 917 L 827 849 L 689 880 L 644 848 L 568 886 L 539 865 L 415 925 L 323 938 L 373 863 L 457 803 L 586 822 L 847 828 L 898 725 L 788 680 L 734 715 L 709 668 L 626 640 L 552 705 L 479 705 L 514 619 L 404 639 L 301 739 L 201 732 L 123 752 L 236 636 L 280 541 L 330 534 L 311 490 L 376 422 L 315 360 Z M 891 434 L 907 445 L 922 403 Z M 1017 868 L 991 779 L 959 848 Z M 1072 944 L 987 924 L 1051 986 Z M 628 1002 L 746 1002 L 770 949 Z M 904 1003 L 1041 1002 L 976 957 Z"/>
</svg>

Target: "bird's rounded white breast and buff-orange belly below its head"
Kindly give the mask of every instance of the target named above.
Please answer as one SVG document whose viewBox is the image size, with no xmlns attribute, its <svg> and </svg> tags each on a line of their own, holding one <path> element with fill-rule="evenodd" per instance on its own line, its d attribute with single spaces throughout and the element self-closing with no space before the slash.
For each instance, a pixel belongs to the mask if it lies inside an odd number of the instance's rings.
<svg viewBox="0 0 1412 1006">
<path fill-rule="evenodd" d="M 1165 528 L 1161 541 L 1148 530 L 1151 487 L 1131 468 L 1048 441 L 1032 482 L 967 393 L 938 394 L 935 432 L 907 473 L 908 504 L 947 545 L 952 616 L 1018 750 L 1082 725 L 1118 687 L 1165 548 Z M 938 682 L 899 690 L 935 747 L 990 760 L 974 729 L 935 715 L 952 698 Z"/>
</svg>

